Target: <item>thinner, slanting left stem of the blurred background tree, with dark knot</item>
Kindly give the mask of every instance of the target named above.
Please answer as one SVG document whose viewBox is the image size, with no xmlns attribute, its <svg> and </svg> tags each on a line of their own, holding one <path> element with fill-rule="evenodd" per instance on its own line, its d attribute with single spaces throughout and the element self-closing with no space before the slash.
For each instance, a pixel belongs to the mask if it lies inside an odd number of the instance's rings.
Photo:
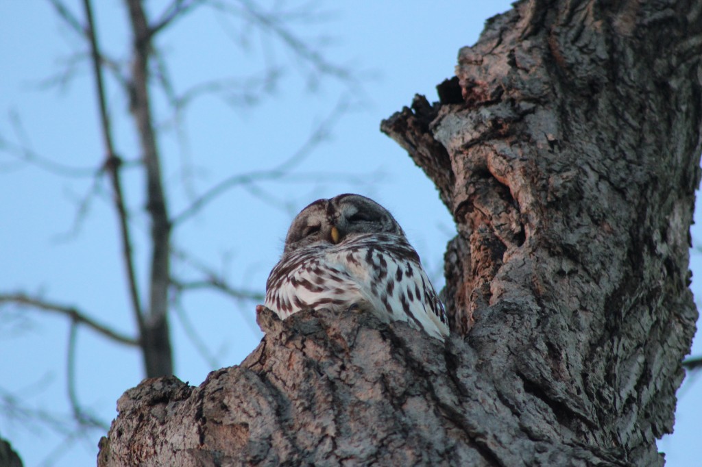
<svg viewBox="0 0 702 467">
<path fill-rule="evenodd" d="M 102 78 L 102 67 L 100 66 L 100 47 L 98 46 L 98 37 L 95 33 L 95 24 L 93 21 L 93 10 L 91 6 L 91 1 L 84 0 L 83 5 L 86 18 L 88 19 L 88 37 L 91 43 L 92 54 L 91 61 L 93 63 L 93 75 L 95 77 L 95 87 L 97 88 L 97 97 L 100 106 L 100 130 L 102 131 L 102 143 L 106 153 L 104 166 L 105 170 L 107 170 L 107 172 L 110 173 L 110 180 L 112 181 L 114 208 L 115 210 L 117 210 L 117 217 L 119 219 L 122 257 L 124 260 L 124 267 L 127 273 L 129 297 L 131 298 L 131 305 L 134 318 L 141 332 L 144 329 L 144 316 L 141 309 L 141 299 L 139 295 L 138 284 L 136 281 L 136 272 L 134 267 L 134 260 L 132 257 L 131 233 L 129 231 L 126 203 L 124 201 L 124 194 L 122 191 L 121 177 L 119 172 L 121 159 L 117 156 L 116 152 L 114 151 L 114 145 L 112 144 L 110 116 L 107 112 L 105 84 Z"/>
</svg>

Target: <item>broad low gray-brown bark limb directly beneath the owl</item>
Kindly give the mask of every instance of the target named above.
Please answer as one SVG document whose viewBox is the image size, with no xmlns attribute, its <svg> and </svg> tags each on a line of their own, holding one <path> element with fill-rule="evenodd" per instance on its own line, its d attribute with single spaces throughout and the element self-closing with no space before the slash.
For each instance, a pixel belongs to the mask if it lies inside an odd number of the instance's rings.
<svg viewBox="0 0 702 467">
<path fill-rule="evenodd" d="M 241 365 L 197 388 L 164 377 L 124 393 L 98 465 L 617 463 L 575 438 L 552 443 L 559 427 L 527 393 L 496 399 L 503 383 L 482 379 L 458 335 L 444 345 L 354 311 L 258 318 L 265 338 Z"/>
</svg>

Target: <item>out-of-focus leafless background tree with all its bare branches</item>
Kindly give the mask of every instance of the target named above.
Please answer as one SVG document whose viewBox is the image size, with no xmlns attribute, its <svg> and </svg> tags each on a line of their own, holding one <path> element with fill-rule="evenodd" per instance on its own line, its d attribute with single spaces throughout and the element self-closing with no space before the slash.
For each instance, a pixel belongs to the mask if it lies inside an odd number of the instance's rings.
<svg viewBox="0 0 702 467">
<path fill-rule="evenodd" d="M 313 21 L 316 14 L 314 4 L 302 6 L 284 6 L 275 4 L 263 8 L 251 0 L 173 0 L 163 11 L 147 11 L 147 2 L 141 0 L 124 0 L 128 24 L 128 53 L 125 60 L 110 56 L 101 43 L 96 26 L 95 7 L 101 5 L 92 0 L 81 0 L 81 8 L 73 10 L 62 0 L 48 0 L 55 13 L 79 39 L 80 50 L 66 61 L 65 69 L 47 79 L 47 86 L 64 86 L 74 78 L 77 67 L 86 62 L 94 86 L 98 119 L 102 139 L 102 158 L 95 161 L 95 167 L 87 169 L 72 168 L 56 163 L 53 158 L 37 154 L 25 144 L 22 138 L 11 141 L 3 137 L 1 149 L 6 154 L 14 154 L 21 161 L 39 166 L 60 176 L 86 177 L 90 182 L 86 196 L 79 201 L 74 229 L 79 229 L 88 212 L 93 198 L 102 196 L 107 186 L 109 202 L 119 226 L 119 243 L 121 246 L 121 264 L 126 278 L 126 290 L 131 306 L 135 329 L 131 333 L 119 332 L 109 325 L 101 323 L 97 314 L 81 309 L 77 304 L 59 303 L 44 294 L 28 290 L 0 292 L 0 304 L 4 306 L 24 306 L 35 311 L 58 313 L 71 323 L 69 330 L 68 356 L 68 393 L 74 409 L 74 419 L 82 428 L 105 429 L 105 421 L 93 417 L 88 410 L 81 407 L 74 388 L 75 334 L 80 328 L 86 328 L 100 334 L 117 344 L 138 348 L 143 358 L 146 377 L 173 374 L 173 344 L 169 330 L 171 311 L 179 309 L 183 296 L 196 290 L 210 289 L 232 298 L 236 302 L 253 304 L 261 300 L 263 290 L 251 290 L 237 287 L 230 283 L 223 274 L 218 273 L 210 264 L 197 259 L 194 252 L 179 248 L 173 244 L 173 233 L 187 223 L 194 215 L 202 212 L 209 203 L 222 196 L 233 187 L 246 187 L 254 194 L 266 198 L 260 189 L 262 182 L 285 180 L 292 177 L 291 171 L 309 155 L 329 134 L 333 125 L 348 108 L 349 99 L 340 97 L 329 116 L 310 133 L 306 142 L 289 154 L 282 163 L 272 168 L 261 168 L 253 172 L 234 172 L 220 182 L 200 192 L 193 192 L 190 205 L 180 212 L 173 211 L 166 194 L 162 166 L 169 157 L 161 150 L 161 121 L 166 116 L 164 111 L 155 109 L 154 100 L 163 98 L 167 102 L 168 119 L 175 122 L 178 132 L 183 128 L 183 114 L 195 100 L 205 95 L 221 97 L 232 106 L 255 104 L 270 94 L 281 79 L 281 67 L 271 63 L 268 69 L 258 76 L 242 79 L 230 77 L 213 79 L 179 90 L 171 79 L 170 67 L 166 54 L 159 48 L 159 37 L 171 28 L 187 26 L 187 18 L 196 10 L 209 9 L 218 13 L 220 18 L 235 22 L 242 29 L 255 30 L 264 34 L 270 41 L 288 49 L 296 57 L 297 66 L 307 79 L 309 86 L 317 86 L 319 81 L 333 79 L 344 83 L 349 94 L 359 89 L 359 82 L 354 74 L 345 67 L 327 59 L 324 50 L 314 41 L 301 39 L 289 24 L 293 18 L 306 18 Z M 112 39 L 110 39 L 112 40 Z M 228 44 L 234 47 L 234 44 Z M 113 121 L 119 109 L 108 102 L 108 88 L 117 89 L 128 102 L 128 111 L 133 123 L 133 135 L 138 141 L 138 154 L 123 154 L 116 141 Z M 15 129 L 22 135 L 20 116 L 15 116 Z M 28 135 L 27 137 L 31 137 Z M 126 170 L 139 172 L 143 179 L 143 192 L 138 196 L 127 196 L 124 188 Z M 185 168 L 184 170 L 187 170 Z M 342 177 L 342 175 L 339 175 Z M 300 177 L 300 174 L 297 175 Z M 348 176 L 350 177 L 350 176 Z M 146 212 L 146 226 L 136 213 L 138 206 L 130 205 L 128 199 L 143 199 Z M 135 237 L 145 238 L 149 245 L 148 281 L 140 283 L 138 262 L 135 259 Z M 173 264 L 182 264 L 192 274 L 183 278 L 173 273 Z M 193 278 L 194 277 L 194 278 Z M 21 401 L 13 395 L 6 394 L 3 399 L 6 413 L 18 414 L 22 411 Z M 24 411 L 22 414 L 31 415 Z M 38 419 L 48 421 L 46 414 L 34 414 Z M 46 417 L 44 417 L 46 415 Z M 48 423 L 51 425 L 51 423 Z M 60 429 L 64 429 L 62 426 Z"/>
</svg>

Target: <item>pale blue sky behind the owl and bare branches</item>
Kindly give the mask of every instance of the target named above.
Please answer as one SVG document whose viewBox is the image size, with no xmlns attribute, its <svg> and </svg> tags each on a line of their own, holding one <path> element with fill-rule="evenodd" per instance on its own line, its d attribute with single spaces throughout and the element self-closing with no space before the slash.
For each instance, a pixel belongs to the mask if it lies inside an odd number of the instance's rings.
<svg viewBox="0 0 702 467">
<path fill-rule="evenodd" d="M 66 3 L 81 12 L 81 2 Z M 150 2 L 152 11 L 164 3 Z M 126 13 L 121 2 L 95 4 L 103 48 L 114 57 L 126 57 Z M 330 78 L 310 86 L 304 65 L 289 50 L 255 29 L 225 20 L 221 13 L 199 11 L 161 36 L 158 45 L 171 63 L 178 90 L 215 77 L 246 78 L 271 66 L 283 73 L 272 94 L 256 104 L 232 108 L 212 96 L 194 101 L 183 116 L 184 135 L 173 130 L 173 116 L 164 111 L 159 97 L 159 128 L 164 131 L 160 143 L 173 213 L 189 205 L 193 192 L 202 193 L 228 175 L 276 167 L 303 147 L 339 102 L 349 107 L 324 141 L 296 166 L 295 177 L 258 184 L 258 191 L 241 187 L 228 191 L 183 224 L 174 241 L 237 287 L 263 291 L 292 215 L 314 198 L 357 191 L 397 217 L 440 288 L 442 255 L 453 236 L 453 222 L 423 172 L 378 127 L 381 119 L 408 105 L 415 93 L 436 100 L 435 86 L 452 76 L 458 48 L 475 43 L 484 20 L 509 8 L 509 3 L 357 1 L 319 6 L 325 14 L 317 22 L 296 23 L 293 30 L 311 43 L 324 39 L 325 56 L 352 70 L 362 82 L 361 90 Z M 66 69 L 76 50 L 83 50 L 81 44 L 47 1 L 0 1 L 0 137 L 30 146 L 53 161 L 91 169 L 102 159 L 102 149 L 86 62 L 78 62 L 66 86 L 43 86 Z M 133 159 L 136 149 L 131 121 L 125 118 L 127 104 L 114 86 L 108 88 L 108 100 L 118 116 L 113 121 L 117 149 Z M 77 202 L 91 189 L 91 178 L 58 177 L 0 153 L 0 180 L 4 266 L 0 290 L 41 293 L 131 333 L 115 216 L 107 197 L 95 197 L 79 229 L 72 230 Z M 143 181 L 137 172 L 128 171 L 125 184 L 133 214 L 141 219 Z M 259 191 L 274 201 L 263 201 Z M 107 187 L 101 192 L 106 194 Z M 139 278 L 145 284 L 147 231 L 136 231 Z M 696 226 L 693 238 L 702 238 Z M 700 264 L 693 252 L 694 291 L 700 287 L 696 280 Z M 176 266 L 176 273 L 192 276 L 182 265 Z M 252 303 L 232 302 L 211 292 L 188 295 L 183 301 L 186 319 L 171 320 L 178 377 L 197 385 L 216 367 L 239 363 L 261 337 L 253 315 Z M 186 323 L 210 355 L 199 353 Z M 34 410 L 69 417 L 68 330 L 62 317 L 0 310 L 4 375 L 0 388 Z M 109 421 L 119 395 L 142 378 L 138 353 L 84 330 L 77 345 L 79 398 Z M 702 353 L 702 345 L 694 351 Z M 701 385 L 702 381 L 684 383 L 675 435 L 658 443 L 667 453 L 668 466 L 689 466 L 702 459 L 702 445 L 697 442 Z M 0 434 L 11 440 L 27 466 L 95 462 L 97 438 L 67 442 L 51 429 L 27 428 L 19 419 L 3 415 Z"/>
</svg>

